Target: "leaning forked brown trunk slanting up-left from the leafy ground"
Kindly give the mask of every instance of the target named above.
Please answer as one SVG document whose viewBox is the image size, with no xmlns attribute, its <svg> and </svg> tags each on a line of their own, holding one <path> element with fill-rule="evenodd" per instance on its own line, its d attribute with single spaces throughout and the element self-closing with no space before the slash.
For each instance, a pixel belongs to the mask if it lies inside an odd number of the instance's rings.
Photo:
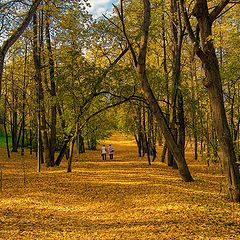
<svg viewBox="0 0 240 240">
<path fill-rule="evenodd" d="M 165 116 L 163 114 L 162 109 L 160 108 L 153 92 L 151 89 L 151 86 L 148 81 L 147 77 L 147 65 L 146 65 L 146 56 L 147 56 L 147 46 L 148 46 L 148 32 L 149 32 L 149 26 L 150 26 L 150 1 L 144 0 L 143 1 L 143 22 L 142 22 L 142 30 L 141 30 L 141 39 L 139 42 L 139 52 L 136 53 L 135 49 L 133 48 L 133 45 L 128 37 L 126 26 L 124 22 L 124 15 L 123 15 L 123 1 L 120 2 L 120 9 L 115 7 L 117 10 L 118 16 L 120 18 L 121 24 L 122 24 L 122 32 L 123 35 L 129 45 L 134 67 L 137 73 L 137 76 L 142 84 L 142 89 L 145 94 L 146 99 L 148 100 L 149 106 L 151 108 L 151 111 L 153 112 L 159 126 L 161 127 L 161 130 L 164 134 L 164 137 L 167 141 L 168 147 L 171 150 L 178 168 L 180 175 L 184 181 L 193 181 L 193 178 L 189 172 L 186 160 L 184 156 L 182 155 L 179 147 L 176 144 L 176 141 L 174 140 L 174 137 L 169 129 L 168 123 L 165 119 Z"/>
</svg>

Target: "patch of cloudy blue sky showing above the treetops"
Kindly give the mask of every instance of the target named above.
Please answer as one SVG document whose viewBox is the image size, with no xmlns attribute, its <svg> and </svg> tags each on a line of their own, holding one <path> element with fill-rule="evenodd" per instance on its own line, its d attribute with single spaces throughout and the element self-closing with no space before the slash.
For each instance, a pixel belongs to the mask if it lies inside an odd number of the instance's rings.
<svg viewBox="0 0 240 240">
<path fill-rule="evenodd" d="M 118 0 L 89 0 L 91 4 L 90 12 L 94 16 L 101 16 L 103 13 L 112 11 L 112 4 L 117 4 Z"/>
</svg>

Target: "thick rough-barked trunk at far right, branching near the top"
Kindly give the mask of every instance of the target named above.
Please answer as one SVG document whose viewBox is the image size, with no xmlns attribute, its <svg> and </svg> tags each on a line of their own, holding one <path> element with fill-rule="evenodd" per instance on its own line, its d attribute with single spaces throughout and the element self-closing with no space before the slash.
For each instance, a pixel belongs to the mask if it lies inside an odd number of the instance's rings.
<svg viewBox="0 0 240 240">
<path fill-rule="evenodd" d="M 207 1 L 197 0 L 193 9 L 193 16 L 196 17 L 198 22 L 199 31 L 197 33 L 199 33 L 199 36 L 195 36 L 192 30 L 183 0 L 181 0 L 181 6 L 190 38 L 195 44 L 196 54 L 201 59 L 206 74 L 206 80 L 203 84 L 208 90 L 213 122 L 223 153 L 223 167 L 228 180 L 229 195 L 232 201 L 240 202 L 239 170 L 236 165 L 236 155 L 224 108 L 220 69 L 212 38 L 212 23 L 228 2 L 229 0 L 220 2 L 209 13 Z"/>
</svg>

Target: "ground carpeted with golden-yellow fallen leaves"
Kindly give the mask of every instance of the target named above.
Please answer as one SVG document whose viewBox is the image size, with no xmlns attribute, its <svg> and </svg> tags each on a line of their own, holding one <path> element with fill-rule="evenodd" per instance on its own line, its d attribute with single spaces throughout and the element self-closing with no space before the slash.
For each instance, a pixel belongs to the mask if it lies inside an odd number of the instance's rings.
<svg viewBox="0 0 240 240">
<path fill-rule="evenodd" d="M 0 239 L 240 239 L 240 204 L 226 198 L 218 165 L 191 161 L 195 182 L 137 157 L 135 142 L 115 136 L 113 161 L 99 151 L 75 155 L 73 172 L 42 167 L 35 156 L 1 149 Z"/>
</svg>

